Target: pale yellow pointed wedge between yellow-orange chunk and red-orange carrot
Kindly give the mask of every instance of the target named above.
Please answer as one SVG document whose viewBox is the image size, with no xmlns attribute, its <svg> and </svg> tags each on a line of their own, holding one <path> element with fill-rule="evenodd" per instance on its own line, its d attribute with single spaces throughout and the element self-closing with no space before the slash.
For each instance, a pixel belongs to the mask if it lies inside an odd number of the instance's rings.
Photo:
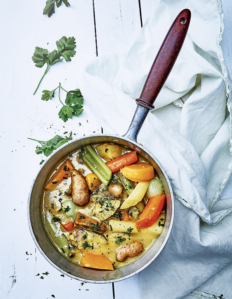
<svg viewBox="0 0 232 299">
<path fill-rule="evenodd" d="M 127 209 L 134 205 L 137 205 L 137 203 L 143 199 L 143 197 L 148 189 L 149 182 L 150 181 L 139 182 L 135 186 L 134 190 L 127 197 L 127 199 L 125 199 L 125 201 L 122 203 L 120 209 Z"/>
</svg>

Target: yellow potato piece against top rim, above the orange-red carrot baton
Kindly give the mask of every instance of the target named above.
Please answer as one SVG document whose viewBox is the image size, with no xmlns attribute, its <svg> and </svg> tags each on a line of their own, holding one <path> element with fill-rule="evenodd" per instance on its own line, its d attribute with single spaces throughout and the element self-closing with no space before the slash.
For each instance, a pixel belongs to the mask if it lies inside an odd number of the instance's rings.
<svg viewBox="0 0 232 299">
<path fill-rule="evenodd" d="M 110 161 L 122 156 L 122 147 L 118 144 L 104 143 L 96 146 L 96 150 L 100 157 L 105 161 Z"/>
</svg>

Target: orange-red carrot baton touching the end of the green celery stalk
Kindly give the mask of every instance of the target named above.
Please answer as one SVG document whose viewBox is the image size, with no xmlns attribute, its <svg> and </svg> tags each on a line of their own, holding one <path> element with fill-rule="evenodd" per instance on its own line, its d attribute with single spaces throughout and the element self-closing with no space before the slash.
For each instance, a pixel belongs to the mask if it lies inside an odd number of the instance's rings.
<svg viewBox="0 0 232 299">
<path fill-rule="evenodd" d="M 119 171 L 122 167 L 131 165 L 138 160 L 136 151 L 129 152 L 122 157 L 113 159 L 112 161 L 106 162 L 106 165 L 110 168 L 110 170 L 115 173 Z"/>
</svg>

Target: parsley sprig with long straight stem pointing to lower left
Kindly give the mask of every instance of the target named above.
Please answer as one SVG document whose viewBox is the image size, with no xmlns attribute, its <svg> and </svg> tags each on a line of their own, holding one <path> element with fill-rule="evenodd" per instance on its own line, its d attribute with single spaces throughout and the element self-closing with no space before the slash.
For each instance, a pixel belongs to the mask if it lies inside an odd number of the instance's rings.
<svg viewBox="0 0 232 299">
<path fill-rule="evenodd" d="M 47 74 L 49 71 L 51 65 L 55 64 L 56 62 L 60 62 L 63 59 L 65 61 L 71 61 L 71 57 L 73 57 L 76 54 L 76 51 L 74 51 L 74 48 L 76 47 L 76 42 L 74 37 L 66 37 L 63 36 L 59 41 L 56 41 L 57 50 L 53 50 L 52 52 L 48 52 L 47 49 L 43 49 L 40 47 L 36 47 L 35 52 L 32 56 L 32 60 L 35 62 L 37 68 L 42 68 L 45 63 L 47 63 L 46 70 L 42 76 L 42 78 L 39 81 L 39 84 L 41 83 L 43 77 Z M 48 53 L 47 53 L 48 52 Z M 60 58 L 60 57 L 63 58 Z M 33 94 L 36 93 L 38 87 L 36 87 L 36 90 Z"/>
</svg>

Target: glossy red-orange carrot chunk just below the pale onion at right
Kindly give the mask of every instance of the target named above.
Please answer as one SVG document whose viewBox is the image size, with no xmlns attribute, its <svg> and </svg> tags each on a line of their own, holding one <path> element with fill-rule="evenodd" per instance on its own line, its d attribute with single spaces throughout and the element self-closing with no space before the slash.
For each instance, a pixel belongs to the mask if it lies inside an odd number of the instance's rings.
<svg viewBox="0 0 232 299">
<path fill-rule="evenodd" d="M 152 226 L 159 217 L 166 201 L 165 194 L 151 197 L 136 221 L 137 228 L 148 228 Z"/>
</svg>

